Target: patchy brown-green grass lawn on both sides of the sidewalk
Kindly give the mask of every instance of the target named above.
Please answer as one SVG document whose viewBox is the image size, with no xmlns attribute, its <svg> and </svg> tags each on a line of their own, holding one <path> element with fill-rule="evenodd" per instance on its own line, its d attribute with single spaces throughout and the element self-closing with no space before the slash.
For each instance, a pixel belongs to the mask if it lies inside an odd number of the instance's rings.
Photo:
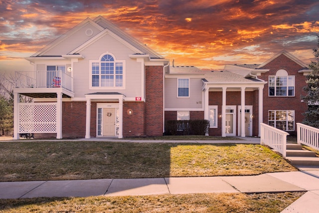
<svg viewBox="0 0 319 213">
<path fill-rule="evenodd" d="M 232 176 L 297 171 L 268 148 L 251 144 L 20 140 L 0 142 L 0 150 L 1 182 Z M 280 213 L 302 195 L 217 193 L 6 199 L 0 200 L 0 212 Z"/>
</svg>

